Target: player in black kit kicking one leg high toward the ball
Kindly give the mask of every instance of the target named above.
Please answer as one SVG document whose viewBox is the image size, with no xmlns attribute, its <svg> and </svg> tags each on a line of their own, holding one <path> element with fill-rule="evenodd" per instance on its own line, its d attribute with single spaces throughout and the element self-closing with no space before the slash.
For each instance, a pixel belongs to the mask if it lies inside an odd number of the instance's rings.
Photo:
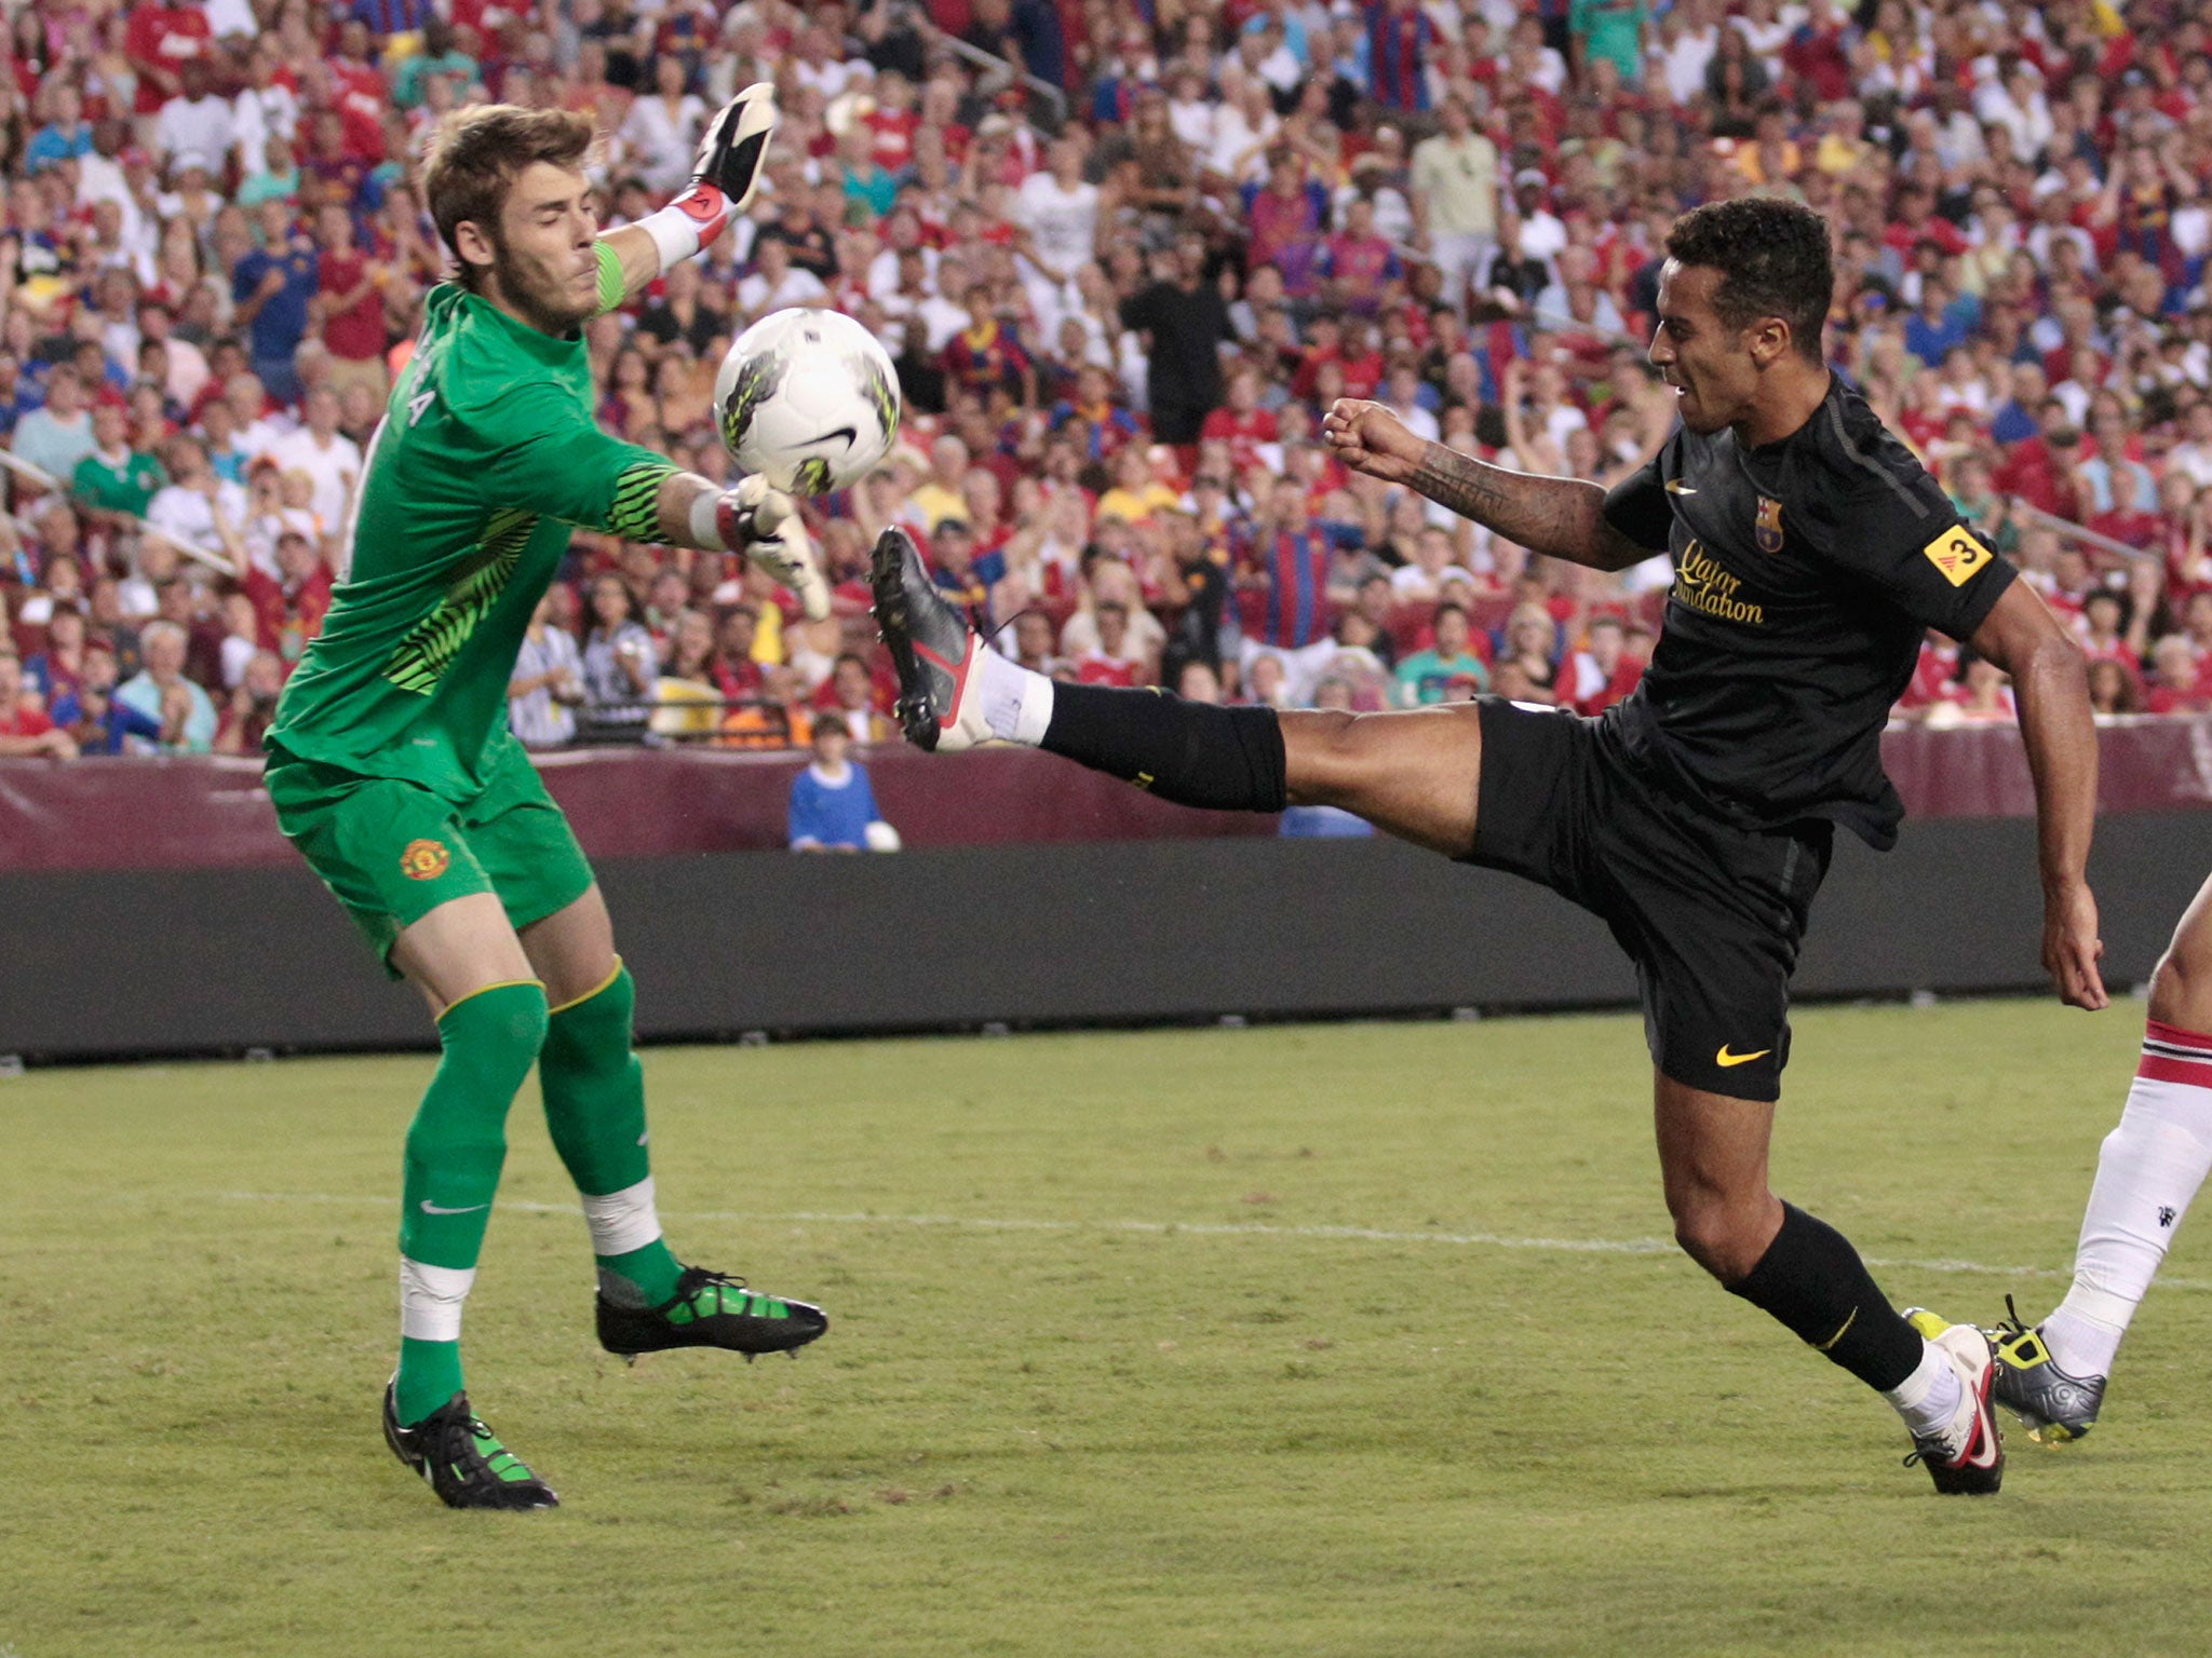
<svg viewBox="0 0 2212 1658">
<path fill-rule="evenodd" d="M 1425 442 L 1374 402 L 1338 402 L 1323 422 L 1345 464 L 1537 553 L 1601 570 L 1672 555 L 1650 672 L 1597 718 L 1498 699 L 1279 714 L 1053 685 L 975 639 L 898 531 L 876 546 L 876 617 L 922 747 L 1033 743 L 1194 807 L 1334 805 L 1604 917 L 1637 964 L 1674 1238 L 1880 1391 L 1936 1490 L 1993 1492 L 1989 1337 L 1898 1313 L 1843 1234 L 1767 1189 L 1790 973 L 1836 825 L 1896 842 L 1902 807 L 1878 738 L 1936 626 L 2013 676 L 2044 966 L 2068 1004 L 2101 1008 L 2084 875 L 2097 743 L 2081 652 L 1827 371 L 1832 287 L 1827 228 L 1807 208 L 1683 214 L 1650 347 L 1681 424 L 1610 493 Z"/>
</svg>

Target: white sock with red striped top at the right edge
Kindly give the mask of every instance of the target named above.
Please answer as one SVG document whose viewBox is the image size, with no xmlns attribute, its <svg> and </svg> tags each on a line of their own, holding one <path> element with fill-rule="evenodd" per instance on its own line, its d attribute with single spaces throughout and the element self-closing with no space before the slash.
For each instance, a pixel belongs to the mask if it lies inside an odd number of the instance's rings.
<svg viewBox="0 0 2212 1658">
<path fill-rule="evenodd" d="M 2150 1021 L 2119 1127 L 2104 1136 L 2075 1282 L 2044 1320 L 2066 1375 L 2112 1373 L 2119 1337 L 2212 1172 L 2212 1037 Z"/>
</svg>

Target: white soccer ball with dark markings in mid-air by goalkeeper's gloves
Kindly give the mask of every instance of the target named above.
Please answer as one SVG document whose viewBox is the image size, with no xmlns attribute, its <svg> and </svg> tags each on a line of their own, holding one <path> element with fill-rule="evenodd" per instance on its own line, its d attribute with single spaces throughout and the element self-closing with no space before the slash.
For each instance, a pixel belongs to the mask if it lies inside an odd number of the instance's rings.
<svg viewBox="0 0 2212 1658">
<path fill-rule="evenodd" d="M 898 371 L 883 343 L 843 312 L 774 312 L 721 360 L 714 424 L 745 473 L 794 495 L 827 495 L 891 453 Z"/>
</svg>

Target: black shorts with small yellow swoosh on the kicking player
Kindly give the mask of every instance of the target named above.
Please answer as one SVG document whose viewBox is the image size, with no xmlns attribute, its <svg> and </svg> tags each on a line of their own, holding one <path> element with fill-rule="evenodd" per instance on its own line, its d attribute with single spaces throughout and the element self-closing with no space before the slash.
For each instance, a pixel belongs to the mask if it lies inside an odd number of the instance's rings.
<svg viewBox="0 0 2212 1658">
<path fill-rule="evenodd" d="M 1635 769 L 1613 727 L 1495 696 L 1467 862 L 1551 886 L 1637 964 L 1652 1063 L 1690 1088 L 1781 1096 L 1790 975 L 1834 844 L 1827 822 L 1739 829 Z"/>
</svg>

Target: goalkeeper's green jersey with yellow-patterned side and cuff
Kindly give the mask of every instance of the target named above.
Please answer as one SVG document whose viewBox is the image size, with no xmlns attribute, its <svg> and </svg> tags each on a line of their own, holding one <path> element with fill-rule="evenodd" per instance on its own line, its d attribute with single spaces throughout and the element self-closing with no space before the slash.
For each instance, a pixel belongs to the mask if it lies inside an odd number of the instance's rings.
<svg viewBox="0 0 2212 1658">
<path fill-rule="evenodd" d="M 582 338 L 431 290 L 363 464 L 352 573 L 276 703 L 272 754 L 478 794 L 522 754 L 507 683 L 571 526 L 659 539 L 672 471 L 599 431 Z"/>
</svg>

